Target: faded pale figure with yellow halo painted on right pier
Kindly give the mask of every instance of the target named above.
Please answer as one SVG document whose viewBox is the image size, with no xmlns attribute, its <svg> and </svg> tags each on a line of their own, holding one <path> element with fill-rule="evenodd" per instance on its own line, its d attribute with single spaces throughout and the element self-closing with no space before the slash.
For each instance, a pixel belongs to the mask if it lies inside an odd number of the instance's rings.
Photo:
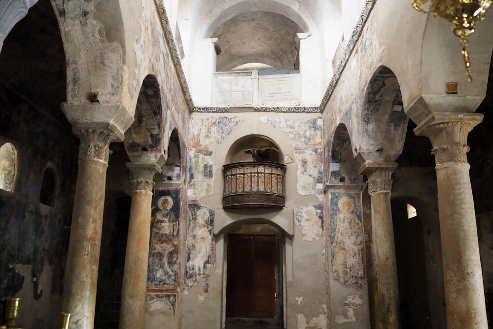
<svg viewBox="0 0 493 329">
<path fill-rule="evenodd" d="M 336 217 L 337 227 L 332 241 L 332 272 L 334 279 L 345 285 L 358 288 L 366 285 L 363 268 L 364 235 L 363 226 L 352 214 L 354 200 L 342 197 L 338 202 L 340 213 Z"/>
</svg>

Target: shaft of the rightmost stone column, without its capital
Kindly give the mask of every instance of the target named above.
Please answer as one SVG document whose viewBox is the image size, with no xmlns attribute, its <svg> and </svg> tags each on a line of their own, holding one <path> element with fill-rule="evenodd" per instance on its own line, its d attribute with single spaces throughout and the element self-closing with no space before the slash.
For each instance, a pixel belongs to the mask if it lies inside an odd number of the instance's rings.
<svg viewBox="0 0 493 329">
<path fill-rule="evenodd" d="M 488 328 L 469 164 L 437 168 L 449 328 Z"/>
</svg>

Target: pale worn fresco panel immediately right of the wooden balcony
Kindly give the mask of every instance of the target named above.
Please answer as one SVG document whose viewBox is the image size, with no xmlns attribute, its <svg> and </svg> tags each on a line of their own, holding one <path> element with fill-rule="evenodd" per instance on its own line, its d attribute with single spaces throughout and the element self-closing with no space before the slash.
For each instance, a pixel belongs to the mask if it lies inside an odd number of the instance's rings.
<svg viewBox="0 0 493 329">
<path fill-rule="evenodd" d="M 323 197 L 323 161 L 322 149 L 295 149 L 298 162 L 298 193 L 315 194 Z"/>
</svg>

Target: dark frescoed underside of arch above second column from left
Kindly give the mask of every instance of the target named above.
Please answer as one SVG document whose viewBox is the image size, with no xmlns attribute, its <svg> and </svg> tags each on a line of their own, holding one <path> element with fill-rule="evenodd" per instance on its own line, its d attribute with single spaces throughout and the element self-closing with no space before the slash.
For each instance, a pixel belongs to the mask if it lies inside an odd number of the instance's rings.
<svg viewBox="0 0 493 329">
<path fill-rule="evenodd" d="M 141 152 L 162 153 L 165 126 L 161 92 L 157 78 L 147 75 L 135 108 L 134 122 L 125 133 L 125 149 L 130 155 Z"/>
</svg>

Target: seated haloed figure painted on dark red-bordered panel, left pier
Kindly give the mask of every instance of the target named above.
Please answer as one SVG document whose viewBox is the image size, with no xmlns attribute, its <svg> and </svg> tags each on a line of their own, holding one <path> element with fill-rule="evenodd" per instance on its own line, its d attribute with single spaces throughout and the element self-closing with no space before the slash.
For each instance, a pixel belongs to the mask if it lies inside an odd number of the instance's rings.
<svg viewBox="0 0 493 329">
<path fill-rule="evenodd" d="M 175 286 L 178 262 L 178 220 L 172 212 L 173 199 L 165 195 L 158 200 L 159 211 L 152 217 L 148 281 Z"/>
</svg>

